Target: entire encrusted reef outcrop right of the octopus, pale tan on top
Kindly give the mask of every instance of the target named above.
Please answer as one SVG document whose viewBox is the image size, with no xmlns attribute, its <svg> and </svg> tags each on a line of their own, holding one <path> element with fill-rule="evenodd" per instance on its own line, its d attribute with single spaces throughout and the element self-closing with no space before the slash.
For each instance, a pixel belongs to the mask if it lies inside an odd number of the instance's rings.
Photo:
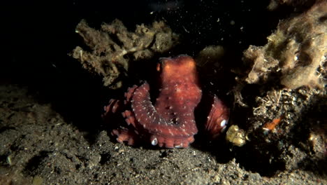
<svg viewBox="0 0 327 185">
<path fill-rule="evenodd" d="M 266 46 L 245 50 L 233 89 L 234 114 L 244 117 L 231 116 L 237 127 L 226 139 L 241 146 L 238 158 L 252 161 L 249 168 L 321 171 L 326 165 L 326 18 L 327 1 L 318 1 L 280 21 Z"/>
</svg>

